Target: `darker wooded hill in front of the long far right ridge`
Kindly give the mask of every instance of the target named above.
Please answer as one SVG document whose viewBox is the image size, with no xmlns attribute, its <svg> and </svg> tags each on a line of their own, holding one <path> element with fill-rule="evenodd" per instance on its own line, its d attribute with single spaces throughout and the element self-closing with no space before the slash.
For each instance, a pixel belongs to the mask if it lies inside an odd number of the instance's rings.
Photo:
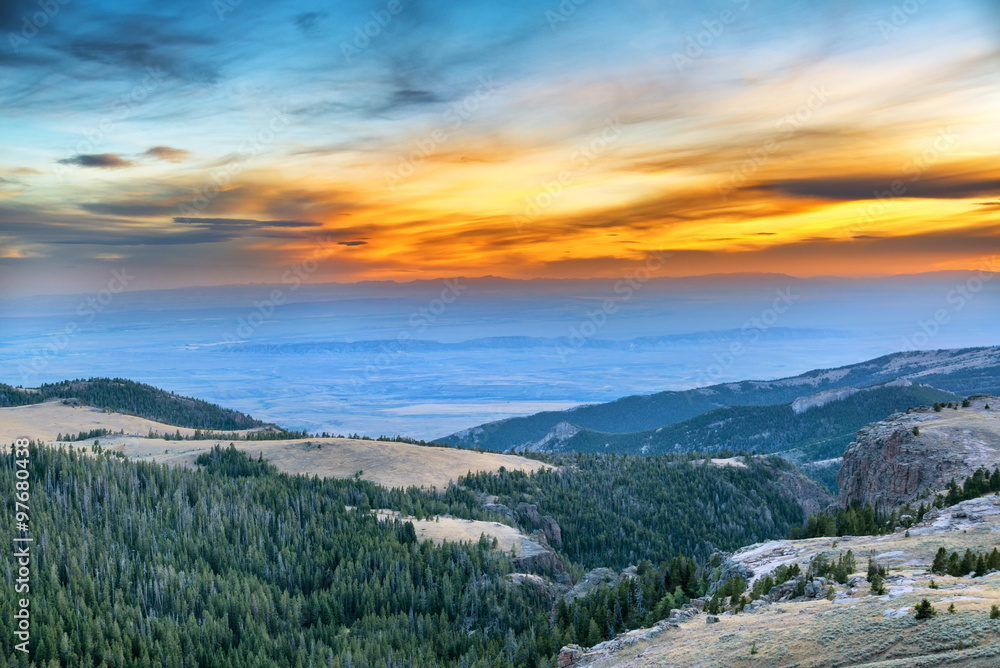
<svg viewBox="0 0 1000 668">
<path fill-rule="evenodd" d="M 633 434 L 582 430 L 559 442 L 576 452 L 666 452 L 748 450 L 781 452 L 799 462 L 839 457 L 869 422 L 909 406 L 960 401 L 948 392 L 914 384 L 876 387 L 800 413 L 791 403 L 729 406 L 675 424 Z"/>
</svg>

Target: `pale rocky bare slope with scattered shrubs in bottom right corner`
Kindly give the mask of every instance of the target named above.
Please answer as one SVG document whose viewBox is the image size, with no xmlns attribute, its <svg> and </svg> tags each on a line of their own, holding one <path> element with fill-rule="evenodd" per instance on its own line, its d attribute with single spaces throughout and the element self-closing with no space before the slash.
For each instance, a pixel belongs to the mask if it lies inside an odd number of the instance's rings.
<svg viewBox="0 0 1000 668">
<path fill-rule="evenodd" d="M 938 547 L 991 550 L 1000 541 L 1000 498 L 965 501 L 929 513 L 910 529 L 881 537 L 813 538 L 769 541 L 740 550 L 733 559 L 768 573 L 783 563 L 805 565 L 821 552 L 836 556 L 848 549 L 864 575 L 866 557 L 875 550 L 891 566 L 885 596 L 872 596 L 863 579 L 854 588 L 836 585 L 837 598 L 763 605 L 756 612 L 724 614 L 707 624 L 697 614 L 648 640 L 634 633 L 616 645 L 622 649 L 586 654 L 579 664 L 612 666 L 769 666 L 775 668 L 911 668 L 1000 665 L 1000 621 L 989 619 L 1000 604 L 1000 573 L 981 578 L 931 575 L 928 567 Z M 836 541 L 836 544 L 834 544 Z M 930 588 L 934 580 L 938 589 Z M 913 606 L 928 599 L 938 614 L 918 621 Z M 954 604 L 955 612 L 948 606 Z M 901 612 L 900 612 L 901 611 Z M 886 615 L 889 616 L 886 616 Z M 900 615 L 894 617 L 892 615 Z M 657 633 L 654 631 L 654 634 Z M 633 644 L 628 644 L 633 643 Z M 756 643 L 756 654 L 751 650 Z"/>
</svg>

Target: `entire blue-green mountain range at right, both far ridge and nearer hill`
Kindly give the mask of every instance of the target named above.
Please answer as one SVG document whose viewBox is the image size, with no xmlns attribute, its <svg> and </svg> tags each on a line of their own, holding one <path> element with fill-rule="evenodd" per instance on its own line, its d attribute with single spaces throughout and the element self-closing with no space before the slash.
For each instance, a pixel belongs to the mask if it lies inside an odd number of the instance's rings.
<svg viewBox="0 0 1000 668">
<path fill-rule="evenodd" d="M 907 381 L 890 382 L 899 379 Z M 894 353 L 779 380 L 510 418 L 437 440 L 498 451 L 763 450 L 808 463 L 839 457 L 860 427 L 896 410 L 998 392 L 1000 347 Z"/>
</svg>

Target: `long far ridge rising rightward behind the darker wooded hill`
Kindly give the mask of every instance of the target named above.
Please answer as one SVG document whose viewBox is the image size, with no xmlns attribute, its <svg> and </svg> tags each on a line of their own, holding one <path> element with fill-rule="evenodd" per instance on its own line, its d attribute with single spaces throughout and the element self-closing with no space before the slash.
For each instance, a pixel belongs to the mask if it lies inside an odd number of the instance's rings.
<svg viewBox="0 0 1000 668">
<path fill-rule="evenodd" d="M 609 403 L 490 422 L 437 440 L 504 451 L 538 442 L 560 422 L 607 433 L 641 432 L 725 406 L 783 404 L 823 390 L 873 385 L 896 378 L 920 380 L 963 396 L 1000 392 L 1000 347 L 894 353 L 780 380 L 747 380 L 681 392 L 624 397 Z"/>
</svg>

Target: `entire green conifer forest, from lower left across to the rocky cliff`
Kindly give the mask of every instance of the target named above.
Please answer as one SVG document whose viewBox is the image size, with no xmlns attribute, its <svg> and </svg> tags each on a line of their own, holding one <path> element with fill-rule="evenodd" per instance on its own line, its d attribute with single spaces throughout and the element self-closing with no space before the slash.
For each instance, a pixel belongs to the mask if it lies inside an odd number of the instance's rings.
<svg viewBox="0 0 1000 668">
<path fill-rule="evenodd" d="M 566 643 L 614 637 L 703 595 L 714 547 L 802 521 L 769 482 L 780 460 L 563 459 L 560 472 L 469 475 L 425 492 L 291 476 L 231 447 L 191 470 L 32 446 L 30 656 L 46 668 L 550 666 Z M 2 462 L 11 498 L 13 455 Z M 499 519 L 481 509 L 483 493 L 554 514 L 575 579 L 629 564 L 637 576 L 567 602 L 508 577 L 514 555 L 485 537 L 418 542 L 412 523 L 370 512 Z M 9 566 L 4 575 L 12 586 Z M 13 605 L 0 601 L 0 667 L 28 665 L 8 628 Z"/>
</svg>

